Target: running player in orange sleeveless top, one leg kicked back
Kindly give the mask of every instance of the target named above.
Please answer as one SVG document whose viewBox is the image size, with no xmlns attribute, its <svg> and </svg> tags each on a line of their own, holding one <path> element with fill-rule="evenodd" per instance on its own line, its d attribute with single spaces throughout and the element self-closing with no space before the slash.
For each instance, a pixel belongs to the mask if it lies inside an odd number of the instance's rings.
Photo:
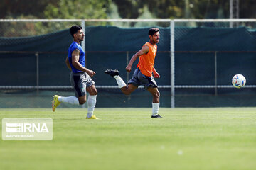
<svg viewBox="0 0 256 170">
<path fill-rule="evenodd" d="M 117 84 L 124 94 L 129 95 L 132 91 L 137 89 L 139 85 L 144 85 L 144 88 L 153 96 L 151 118 L 161 118 L 161 115 L 158 114 L 160 93 L 157 89 L 156 81 L 154 80 L 154 77 L 160 77 L 159 73 L 156 72 L 156 69 L 154 68 L 154 59 L 157 51 L 156 43 L 159 42 L 159 38 L 159 28 L 151 28 L 149 30 L 149 42 L 146 42 L 142 49 L 132 56 L 132 59 L 125 68 L 127 72 L 131 72 L 132 64 L 138 57 L 139 63 L 137 64 L 137 69 L 135 69 L 134 74 L 132 75 L 132 79 L 128 81 L 128 86 L 124 83 L 122 78 L 119 77 L 117 69 L 107 69 L 105 71 L 106 74 L 110 74 L 110 76 L 117 80 Z M 154 74 L 154 77 L 152 76 L 152 73 Z"/>
</svg>

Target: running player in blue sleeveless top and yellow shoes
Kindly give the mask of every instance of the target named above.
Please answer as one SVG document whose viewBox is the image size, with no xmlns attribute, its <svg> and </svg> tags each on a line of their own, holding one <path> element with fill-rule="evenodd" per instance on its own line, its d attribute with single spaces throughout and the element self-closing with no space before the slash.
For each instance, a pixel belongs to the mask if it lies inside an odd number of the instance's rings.
<svg viewBox="0 0 256 170">
<path fill-rule="evenodd" d="M 72 26 L 70 28 L 70 34 L 72 35 L 74 42 L 68 49 L 68 57 L 65 60 L 67 67 L 70 69 L 70 82 L 75 89 L 75 96 L 63 97 L 54 95 L 52 101 L 53 111 L 60 103 L 70 103 L 74 105 L 82 105 L 86 102 L 86 91 L 90 94 L 88 96 L 88 113 L 87 119 L 97 119 L 93 115 L 93 111 L 96 105 L 97 89 L 95 82 L 91 77 L 95 75 L 95 72 L 85 68 L 85 52 L 82 50 L 81 42 L 85 38 L 85 34 L 82 31 L 81 26 Z"/>
</svg>

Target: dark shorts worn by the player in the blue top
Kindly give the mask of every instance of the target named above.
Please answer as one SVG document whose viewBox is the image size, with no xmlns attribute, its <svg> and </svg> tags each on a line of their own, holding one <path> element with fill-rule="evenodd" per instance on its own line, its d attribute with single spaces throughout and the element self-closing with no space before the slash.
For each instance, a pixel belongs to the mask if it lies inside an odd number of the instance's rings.
<svg viewBox="0 0 256 170">
<path fill-rule="evenodd" d="M 71 86 L 75 89 L 75 96 L 81 97 L 86 95 L 86 87 L 92 86 L 95 82 L 92 78 L 86 73 L 70 73 L 70 83 Z"/>
</svg>

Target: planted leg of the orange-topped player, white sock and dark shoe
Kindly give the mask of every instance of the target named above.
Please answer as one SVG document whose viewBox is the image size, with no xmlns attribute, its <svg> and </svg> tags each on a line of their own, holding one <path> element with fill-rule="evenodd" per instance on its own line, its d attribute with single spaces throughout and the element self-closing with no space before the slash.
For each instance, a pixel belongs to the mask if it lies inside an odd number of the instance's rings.
<svg viewBox="0 0 256 170">
<path fill-rule="evenodd" d="M 159 105 L 160 105 L 160 92 L 157 89 L 157 87 L 152 88 L 149 87 L 147 89 L 153 96 L 153 101 L 152 101 L 152 116 L 151 118 L 162 118 L 161 115 L 158 114 L 159 112 Z"/>
</svg>

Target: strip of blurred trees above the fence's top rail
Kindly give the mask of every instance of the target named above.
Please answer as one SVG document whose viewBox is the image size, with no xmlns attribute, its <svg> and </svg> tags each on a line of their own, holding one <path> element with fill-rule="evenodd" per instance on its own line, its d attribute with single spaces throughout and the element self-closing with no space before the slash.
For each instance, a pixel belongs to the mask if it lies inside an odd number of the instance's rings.
<svg viewBox="0 0 256 170">
<path fill-rule="evenodd" d="M 254 0 L 1 0 L 9 19 L 218 19 L 256 18 Z"/>
</svg>

